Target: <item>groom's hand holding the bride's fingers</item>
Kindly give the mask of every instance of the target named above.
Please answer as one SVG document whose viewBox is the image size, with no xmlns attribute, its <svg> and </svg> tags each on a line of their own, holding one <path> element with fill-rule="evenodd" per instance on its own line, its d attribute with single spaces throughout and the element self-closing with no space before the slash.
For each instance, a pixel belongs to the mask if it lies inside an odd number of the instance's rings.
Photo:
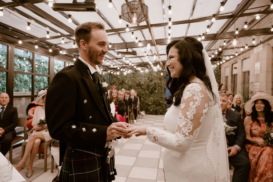
<svg viewBox="0 0 273 182">
<path fill-rule="evenodd" d="M 106 140 L 113 140 L 116 137 L 127 135 L 128 131 L 126 129 L 127 129 L 127 126 L 125 125 L 124 122 L 112 123 L 107 128 Z"/>
</svg>

